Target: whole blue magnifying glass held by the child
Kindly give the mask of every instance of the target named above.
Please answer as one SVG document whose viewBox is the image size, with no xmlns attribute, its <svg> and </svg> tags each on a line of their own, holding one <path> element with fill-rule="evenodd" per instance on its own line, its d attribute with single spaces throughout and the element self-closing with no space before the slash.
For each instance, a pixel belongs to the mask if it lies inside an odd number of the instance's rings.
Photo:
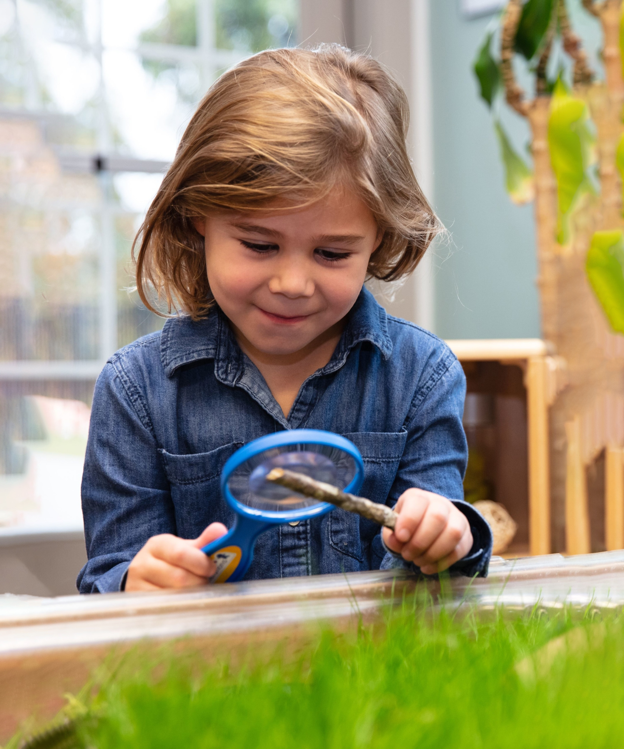
<svg viewBox="0 0 624 749">
<path fill-rule="evenodd" d="M 290 429 L 267 434 L 241 447 L 221 472 L 221 491 L 236 513 L 225 536 L 202 551 L 216 563 L 211 582 L 240 580 L 253 560 L 253 548 L 265 530 L 283 523 L 318 518 L 333 505 L 265 481 L 273 468 L 305 473 L 317 481 L 357 494 L 364 464 L 354 443 L 320 429 Z"/>
</svg>

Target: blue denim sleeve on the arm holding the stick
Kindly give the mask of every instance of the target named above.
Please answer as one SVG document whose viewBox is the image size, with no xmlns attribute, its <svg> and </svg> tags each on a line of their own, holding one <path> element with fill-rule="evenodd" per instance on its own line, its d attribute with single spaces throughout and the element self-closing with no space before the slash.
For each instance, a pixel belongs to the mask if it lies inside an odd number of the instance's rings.
<svg viewBox="0 0 624 749">
<path fill-rule="evenodd" d="M 411 403 L 405 429 L 408 438 L 395 482 L 388 497 L 394 506 L 411 487 L 433 491 L 451 500 L 470 523 L 473 546 L 468 554 L 449 568 L 451 574 L 485 577 L 492 553 L 492 534 L 485 518 L 464 501 L 463 479 L 468 447 L 461 417 L 464 412 L 466 378 L 455 356 L 446 356 L 431 366 L 425 383 Z M 381 543 L 387 554 L 381 569 L 404 567 L 419 572 Z"/>
</svg>

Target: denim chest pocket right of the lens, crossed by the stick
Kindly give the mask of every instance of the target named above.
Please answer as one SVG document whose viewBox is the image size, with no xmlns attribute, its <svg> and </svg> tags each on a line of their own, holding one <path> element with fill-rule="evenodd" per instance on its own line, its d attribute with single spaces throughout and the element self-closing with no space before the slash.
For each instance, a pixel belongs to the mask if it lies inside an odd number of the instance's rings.
<svg viewBox="0 0 624 749">
<path fill-rule="evenodd" d="M 358 494 L 385 504 L 399 470 L 407 431 L 360 431 L 342 436 L 360 450 L 364 462 L 364 481 Z M 330 512 L 328 528 L 330 545 L 358 562 L 363 562 L 366 548 L 379 532 L 378 524 L 339 508 Z"/>
</svg>

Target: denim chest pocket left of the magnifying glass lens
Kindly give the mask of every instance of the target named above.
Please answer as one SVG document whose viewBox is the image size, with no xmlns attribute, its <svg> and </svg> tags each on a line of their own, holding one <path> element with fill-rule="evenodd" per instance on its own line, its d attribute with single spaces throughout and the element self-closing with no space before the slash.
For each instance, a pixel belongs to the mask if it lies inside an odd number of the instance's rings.
<svg viewBox="0 0 624 749">
<path fill-rule="evenodd" d="M 195 539 L 214 522 L 231 526 L 234 513 L 221 496 L 219 482 L 225 462 L 242 445 L 232 442 L 191 455 L 160 450 L 171 485 L 178 536 Z"/>
</svg>

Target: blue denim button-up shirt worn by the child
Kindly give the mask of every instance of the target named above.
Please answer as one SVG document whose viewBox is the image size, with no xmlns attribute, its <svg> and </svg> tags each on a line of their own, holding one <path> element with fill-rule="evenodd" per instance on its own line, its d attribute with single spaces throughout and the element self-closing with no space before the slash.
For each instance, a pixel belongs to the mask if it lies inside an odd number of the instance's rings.
<svg viewBox="0 0 624 749">
<path fill-rule="evenodd" d="M 463 501 L 465 378 L 431 333 L 387 315 L 366 289 L 329 363 L 303 383 L 288 416 L 240 350 L 218 308 L 169 319 L 162 333 L 114 354 L 97 380 L 82 476 L 88 562 L 80 592 L 123 587 L 145 542 L 194 539 L 231 527 L 219 490 L 240 446 L 282 429 L 326 429 L 360 449 L 363 497 L 393 506 L 410 487 L 448 497 L 464 512 L 473 548 L 452 570 L 485 576 L 491 531 Z M 261 534 L 245 579 L 407 566 L 378 524 L 342 509 Z"/>
</svg>

